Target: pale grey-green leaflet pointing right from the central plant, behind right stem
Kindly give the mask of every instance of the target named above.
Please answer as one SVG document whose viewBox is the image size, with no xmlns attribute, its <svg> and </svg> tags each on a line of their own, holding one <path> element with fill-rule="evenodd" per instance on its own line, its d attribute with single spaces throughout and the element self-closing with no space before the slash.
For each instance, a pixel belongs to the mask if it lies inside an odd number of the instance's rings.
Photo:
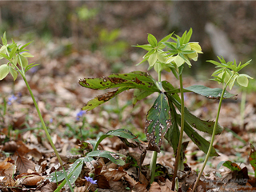
<svg viewBox="0 0 256 192">
<path fill-rule="evenodd" d="M 191 92 L 194 92 L 195 94 L 201 94 L 202 96 L 205 96 L 206 98 L 210 98 L 210 99 L 219 99 L 222 95 L 221 88 L 209 88 L 209 87 L 200 86 L 200 85 L 189 86 L 189 87 L 186 87 L 184 90 L 189 90 Z M 236 96 L 235 94 L 230 94 L 227 91 L 224 94 L 224 98 L 234 98 L 235 96 Z"/>
</svg>

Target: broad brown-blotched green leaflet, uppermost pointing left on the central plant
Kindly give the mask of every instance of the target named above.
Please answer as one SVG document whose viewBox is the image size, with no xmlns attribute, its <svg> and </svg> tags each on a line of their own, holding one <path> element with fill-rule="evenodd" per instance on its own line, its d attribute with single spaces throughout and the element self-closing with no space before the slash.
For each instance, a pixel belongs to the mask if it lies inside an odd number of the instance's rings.
<svg viewBox="0 0 256 192">
<path fill-rule="evenodd" d="M 106 90 L 108 88 L 130 86 L 142 90 L 158 91 L 154 78 L 142 71 L 134 71 L 129 74 L 110 74 L 103 78 L 83 78 L 79 84 L 93 90 Z"/>
</svg>

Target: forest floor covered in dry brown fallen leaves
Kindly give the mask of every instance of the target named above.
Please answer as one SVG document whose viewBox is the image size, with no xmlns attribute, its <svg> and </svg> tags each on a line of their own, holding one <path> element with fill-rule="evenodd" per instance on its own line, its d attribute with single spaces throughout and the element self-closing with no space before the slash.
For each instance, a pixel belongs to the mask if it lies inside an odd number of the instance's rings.
<svg viewBox="0 0 256 192">
<path fill-rule="evenodd" d="M 27 73 L 30 87 L 38 102 L 46 126 L 53 138 L 54 145 L 66 163 L 66 169 L 74 160 L 84 157 L 86 150 L 82 143 L 95 140 L 109 130 L 127 129 L 146 142 L 143 133 L 147 110 L 152 105 L 153 98 L 146 98 L 132 106 L 133 91 L 129 90 L 118 95 L 113 101 L 87 111 L 82 116 L 79 113 L 82 106 L 91 98 L 104 93 L 103 90 L 90 90 L 78 84 L 80 78 L 102 77 L 113 73 L 113 64 L 106 62 L 101 52 L 90 50 L 71 51 L 65 55 L 59 46 L 60 42 L 52 42 L 43 46 L 30 46 L 34 58 L 30 62 L 40 65 Z M 140 56 L 134 54 L 132 63 L 138 63 Z M 146 65 L 122 66 L 120 73 L 134 70 L 146 71 Z M 200 72 L 199 72 L 200 73 Z M 154 71 L 150 71 L 153 76 Z M 202 76 L 203 73 L 200 75 Z M 185 76 L 184 86 L 204 85 L 219 87 L 218 83 L 207 80 L 210 77 L 198 78 Z M 162 80 L 178 82 L 169 74 L 163 74 Z M 9 75 L 0 86 L 0 190 L 1 191 L 54 191 L 57 185 L 50 182 L 47 176 L 58 170 L 58 159 L 46 140 L 37 111 L 21 77 L 13 82 Z M 240 127 L 240 102 L 242 93 L 237 100 L 226 100 L 222 105 L 219 124 L 225 129 L 216 136 L 214 147 L 219 156 L 210 158 L 198 191 L 251 191 L 256 190 L 254 170 L 250 166 L 250 142 L 256 142 L 255 135 L 255 93 L 247 94 L 246 110 L 243 128 Z M 13 95 L 13 96 L 12 96 Z M 6 101 L 6 105 L 4 104 Z M 218 101 L 210 100 L 195 94 L 186 94 L 186 107 L 200 118 L 214 120 Z M 210 141 L 210 135 L 202 134 Z M 190 141 L 186 135 L 184 142 Z M 105 138 L 100 145 L 101 150 L 122 154 L 130 154 L 139 159 L 138 148 L 125 146 L 118 137 Z M 86 164 L 76 182 L 74 191 L 172 191 L 171 175 L 174 170 L 174 152 L 172 147 L 164 142 L 161 153 L 158 154 L 158 177 L 149 186 L 150 177 L 146 165 L 150 163 L 152 152 L 148 151 L 138 177 L 137 166 L 131 163 L 117 166 L 104 158 L 95 158 L 101 168 L 93 169 Z M 189 142 L 185 151 L 186 169 L 179 171 L 179 191 L 190 191 L 195 181 L 197 171 L 201 169 L 205 154 L 198 150 L 193 142 Z M 79 156 L 80 155 L 80 156 Z M 255 157 L 254 157 L 255 158 Z M 224 166 L 217 169 L 222 161 L 237 163 L 238 170 L 231 171 Z M 244 168 L 246 167 L 246 168 Z M 240 171 L 241 170 L 241 171 Z M 85 176 L 94 173 L 97 184 L 90 185 Z M 242 178 L 243 180 L 239 180 Z M 237 179 L 237 180 L 236 180 Z M 62 191 L 68 190 L 64 186 Z"/>
</svg>

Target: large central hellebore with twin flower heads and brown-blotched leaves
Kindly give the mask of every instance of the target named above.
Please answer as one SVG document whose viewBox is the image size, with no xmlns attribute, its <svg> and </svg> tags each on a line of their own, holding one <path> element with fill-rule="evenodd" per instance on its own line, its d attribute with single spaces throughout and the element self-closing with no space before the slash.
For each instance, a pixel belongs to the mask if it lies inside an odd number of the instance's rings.
<svg viewBox="0 0 256 192">
<path fill-rule="evenodd" d="M 202 138 L 194 129 L 206 132 L 208 134 L 220 134 L 222 126 L 217 122 L 204 121 L 197 118 L 184 106 L 184 92 L 194 92 L 201 94 L 206 98 L 220 99 L 222 89 L 210 89 L 206 86 L 190 86 L 183 88 L 182 71 L 184 64 L 191 66 L 190 60 L 196 61 L 198 54 L 202 54 L 201 47 L 198 42 L 190 42 L 192 30 L 182 34 L 182 37 L 173 34 L 162 38 L 160 42 L 152 34 L 148 34 L 149 44 L 136 46 L 147 50 L 142 62 L 149 63 L 148 70 L 154 68 L 158 73 L 158 80 L 151 77 L 150 74 L 142 71 L 134 71 L 126 74 L 111 74 L 102 78 L 83 78 L 79 80 L 79 84 L 93 90 L 106 90 L 109 88 L 117 88 L 114 91 L 101 94 L 86 103 L 82 110 L 93 110 L 95 107 L 109 101 L 125 90 L 134 89 L 133 105 L 139 100 L 146 98 L 150 94 L 158 93 L 158 98 L 155 99 L 153 106 L 146 114 L 145 134 L 148 140 L 146 150 L 153 150 L 154 154 L 150 163 L 150 182 L 154 182 L 155 165 L 158 152 L 162 146 L 164 138 L 174 148 L 176 154 L 173 188 L 177 171 L 184 169 L 182 152 L 182 136 L 183 130 L 190 139 L 198 146 L 200 150 L 207 153 L 210 148 L 210 143 Z M 172 38 L 174 42 L 168 40 Z M 164 50 L 167 49 L 167 50 Z M 174 77 L 180 82 L 180 87 L 175 88 L 170 82 L 161 80 L 162 70 L 172 72 Z M 241 80 L 241 79 L 239 79 Z M 178 94 L 180 93 L 180 97 Z M 223 98 L 234 98 L 234 94 L 225 92 Z M 179 110 L 181 114 L 178 114 Z M 179 130 L 181 127 L 181 130 Z M 210 156 L 218 155 L 214 148 L 210 148 Z M 174 189 L 172 189 L 174 190 Z"/>
</svg>

